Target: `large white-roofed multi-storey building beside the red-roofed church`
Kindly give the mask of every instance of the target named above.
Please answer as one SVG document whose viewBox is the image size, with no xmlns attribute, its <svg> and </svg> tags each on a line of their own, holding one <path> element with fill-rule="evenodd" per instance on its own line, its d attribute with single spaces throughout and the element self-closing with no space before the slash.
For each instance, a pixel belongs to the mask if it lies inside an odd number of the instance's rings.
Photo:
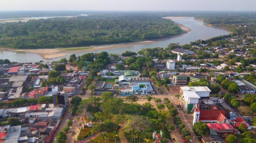
<svg viewBox="0 0 256 143">
<path fill-rule="evenodd" d="M 207 86 L 180 87 L 180 103 L 186 113 L 199 103 L 199 99 L 209 98 L 211 90 Z"/>
</svg>

